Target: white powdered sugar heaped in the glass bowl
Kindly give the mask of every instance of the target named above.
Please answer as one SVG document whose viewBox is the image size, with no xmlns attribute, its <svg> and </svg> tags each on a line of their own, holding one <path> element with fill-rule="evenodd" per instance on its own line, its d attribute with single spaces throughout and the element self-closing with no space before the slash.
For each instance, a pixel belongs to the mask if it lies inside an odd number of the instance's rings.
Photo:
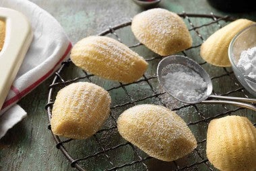
<svg viewBox="0 0 256 171">
<path fill-rule="evenodd" d="M 256 46 L 241 53 L 237 66 L 245 75 L 256 79 Z"/>
</svg>

